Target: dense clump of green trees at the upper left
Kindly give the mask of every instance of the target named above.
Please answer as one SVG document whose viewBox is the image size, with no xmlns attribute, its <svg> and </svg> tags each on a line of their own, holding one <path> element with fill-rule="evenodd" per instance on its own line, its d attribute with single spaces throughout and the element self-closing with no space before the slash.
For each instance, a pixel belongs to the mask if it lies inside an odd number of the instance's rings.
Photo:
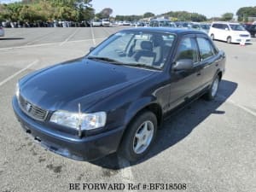
<svg viewBox="0 0 256 192">
<path fill-rule="evenodd" d="M 90 20 L 94 17 L 91 0 L 23 0 L 0 4 L 0 20 L 50 21 Z"/>
</svg>

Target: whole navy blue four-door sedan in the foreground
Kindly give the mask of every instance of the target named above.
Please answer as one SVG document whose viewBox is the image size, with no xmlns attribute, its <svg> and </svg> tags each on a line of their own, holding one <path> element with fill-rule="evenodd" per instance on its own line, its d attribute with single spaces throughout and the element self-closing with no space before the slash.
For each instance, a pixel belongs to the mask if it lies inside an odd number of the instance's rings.
<svg viewBox="0 0 256 192">
<path fill-rule="evenodd" d="M 95 160 L 118 152 L 136 161 L 168 114 L 217 95 L 224 71 L 225 54 L 206 33 L 137 27 L 26 75 L 12 103 L 25 131 L 57 154 Z"/>
</svg>

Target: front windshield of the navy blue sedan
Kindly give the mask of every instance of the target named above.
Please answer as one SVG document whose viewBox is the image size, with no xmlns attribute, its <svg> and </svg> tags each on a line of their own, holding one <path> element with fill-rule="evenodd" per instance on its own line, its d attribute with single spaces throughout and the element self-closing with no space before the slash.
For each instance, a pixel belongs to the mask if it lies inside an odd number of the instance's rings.
<svg viewBox="0 0 256 192">
<path fill-rule="evenodd" d="M 117 32 L 93 49 L 87 58 L 114 65 L 162 69 L 175 36 L 159 32 Z"/>
</svg>

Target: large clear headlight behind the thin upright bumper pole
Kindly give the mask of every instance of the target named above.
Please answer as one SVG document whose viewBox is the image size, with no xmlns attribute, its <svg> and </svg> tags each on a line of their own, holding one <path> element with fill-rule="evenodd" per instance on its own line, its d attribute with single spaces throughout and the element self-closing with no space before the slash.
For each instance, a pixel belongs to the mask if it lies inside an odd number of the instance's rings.
<svg viewBox="0 0 256 192">
<path fill-rule="evenodd" d="M 93 130 L 106 124 L 107 114 L 98 113 L 71 113 L 67 111 L 56 111 L 52 114 L 50 122 L 65 125 L 76 130 Z"/>
</svg>

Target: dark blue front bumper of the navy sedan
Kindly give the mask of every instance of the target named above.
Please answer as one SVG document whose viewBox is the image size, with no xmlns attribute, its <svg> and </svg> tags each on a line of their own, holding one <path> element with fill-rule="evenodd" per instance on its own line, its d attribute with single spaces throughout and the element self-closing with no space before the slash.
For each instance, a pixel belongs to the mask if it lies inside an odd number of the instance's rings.
<svg viewBox="0 0 256 192">
<path fill-rule="evenodd" d="M 125 130 L 125 127 L 119 127 L 90 137 L 68 137 L 67 134 L 51 130 L 42 122 L 29 118 L 20 110 L 15 96 L 12 104 L 17 119 L 27 133 L 44 148 L 73 160 L 96 160 L 112 154 L 118 149 Z"/>
</svg>

